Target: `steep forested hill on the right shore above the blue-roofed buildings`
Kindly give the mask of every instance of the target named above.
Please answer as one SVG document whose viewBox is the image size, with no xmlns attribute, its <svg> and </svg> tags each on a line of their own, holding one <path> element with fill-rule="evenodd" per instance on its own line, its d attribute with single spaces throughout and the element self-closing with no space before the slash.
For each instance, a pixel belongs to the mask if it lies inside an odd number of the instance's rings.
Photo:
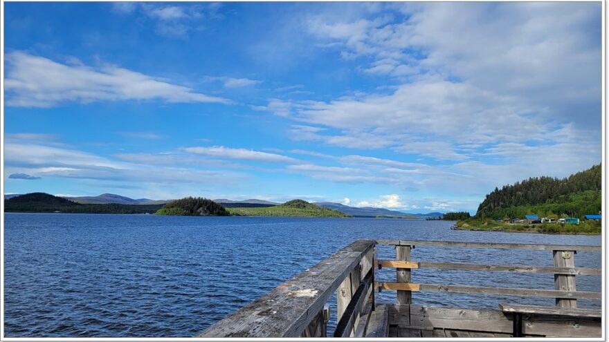
<svg viewBox="0 0 609 342">
<path fill-rule="evenodd" d="M 487 195 L 478 218 L 516 218 L 527 214 L 580 217 L 601 211 L 601 165 L 558 179 L 529 178 Z"/>
</svg>

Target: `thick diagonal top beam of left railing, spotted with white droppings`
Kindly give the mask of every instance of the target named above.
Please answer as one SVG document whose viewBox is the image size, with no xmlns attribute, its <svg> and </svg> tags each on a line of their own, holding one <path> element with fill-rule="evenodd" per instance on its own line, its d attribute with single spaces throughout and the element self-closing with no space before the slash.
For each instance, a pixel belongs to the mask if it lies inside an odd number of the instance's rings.
<svg viewBox="0 0 609 342">
<path fill-rule="evenodd" d="M 358 240 L 340 249 L 197 337 L 300 336 L 372 247 L 374 241 Z"/>
</svg>

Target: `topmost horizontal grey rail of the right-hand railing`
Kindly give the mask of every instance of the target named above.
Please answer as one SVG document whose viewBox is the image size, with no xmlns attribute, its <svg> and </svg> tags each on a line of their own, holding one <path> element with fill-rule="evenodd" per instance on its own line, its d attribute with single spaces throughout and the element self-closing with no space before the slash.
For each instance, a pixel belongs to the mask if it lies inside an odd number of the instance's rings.
<svg viewBox="0 0 609 342">
<path fill-rule="evenodd" d="M 601 246 L 585 245 L 537 245 L 527 243 L 469 243 L 462 241 L 428 241 L 428 240 L 376 240 L 378 245 L 394 246 L 431 246 L 446 248 L 487 248 L 487 249 L 536 249 L 562 251 L 601 251 Z"/>
</svg>

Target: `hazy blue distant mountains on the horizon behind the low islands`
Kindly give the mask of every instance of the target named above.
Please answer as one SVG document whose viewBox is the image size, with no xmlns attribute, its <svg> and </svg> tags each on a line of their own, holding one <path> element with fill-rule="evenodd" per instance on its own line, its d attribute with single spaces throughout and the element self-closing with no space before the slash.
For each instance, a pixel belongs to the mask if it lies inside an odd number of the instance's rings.
<svg viewBox="0 0 609 342">
<path fill-rule="evenodd" d="M 19 194 L 4 195 L 4 199 L 12 198 L 15 196 L 21 196 Z M 68 200 L 78 202 L 81 204 L 109 204 L 116 203 L 119 205 L 163 205 L 171 202 L 172 200 L 150 200 L 148 198 L 128 198 L 125 196 L 116 195 L 114 193 L 102 193 L 100 196 L 82 196 L 82 197 L 64 197 Z M 279 205 L 277 202 L 270 202 L 268 200 L 228 200 L 226 198 L 218 198 L 213 200 L 214 202 L 221 203 L 224 207 L 272 207 Z M 442 218 L 444 213 L 432 212 L 432 213 L 404 213 L 402 211 L 395 211 L 383 208 L 373 207 L 349 207 L 348 205 L 341 205 L 336 202 L 315 202 L 313 203 L 320 207 L 327 209 L 338 210 L 351 216 L 356 217 L 400 217 L 400 218 Z"/>
</svg>

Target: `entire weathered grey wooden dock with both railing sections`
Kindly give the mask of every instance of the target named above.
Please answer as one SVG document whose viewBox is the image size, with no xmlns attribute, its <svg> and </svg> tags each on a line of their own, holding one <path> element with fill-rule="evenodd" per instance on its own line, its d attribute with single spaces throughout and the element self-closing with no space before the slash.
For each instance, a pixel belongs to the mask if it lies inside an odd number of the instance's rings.
<svg viewBox="0 0 609 342">
<path fill-rule="evenodd" d="M 377 245 L 396 250 L 395 260 L 376 258 Z M 547 250 L 554 267 L 484 265 L 411 260 L 415 247 Z M 549 252 L 552 251 L 552 254 Z M 578 275 L 601 276 L 601 269 L 575 266 L 577 251 L 600 246 L 466 243 L 424 240 L 357 240 L 253 303 L 212 325 L 197 337 L 588 337 L 601 338 L 601 310 L 577 308 L 578 299 L 601 299 L 601 292 L 577 291 Z M 376 272 L 395 269 L 396 281 L 375 281 Z M 412 283 L 417 269 L 554 274 L 553 289 Z M 396 291 L 396 303 L 377 303 L 376 292 Z M 555 306 L 502 303 L 498 310 L 424 307 L 412 292 L 500 294 L 555 298 Z M 336 293 L 336 328 L 328 332 L 328 303 Z"/>
</svg>

